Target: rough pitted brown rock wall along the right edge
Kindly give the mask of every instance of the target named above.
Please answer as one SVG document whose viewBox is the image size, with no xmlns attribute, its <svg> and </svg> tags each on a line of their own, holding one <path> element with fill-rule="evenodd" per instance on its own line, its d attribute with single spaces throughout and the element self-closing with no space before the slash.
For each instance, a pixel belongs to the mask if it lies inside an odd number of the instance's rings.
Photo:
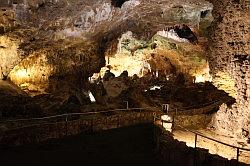
<svg viewBox="0 0 250 166">
<path fill-rule="evenodd" d="M 250 138 L 250 1 L 210 0 L 215 21 L 210 29 L 210 68 L 228 73 L 235 82 L 236 104 L 222 105 L 214 117 L 219 131 Z"/>
</svg>

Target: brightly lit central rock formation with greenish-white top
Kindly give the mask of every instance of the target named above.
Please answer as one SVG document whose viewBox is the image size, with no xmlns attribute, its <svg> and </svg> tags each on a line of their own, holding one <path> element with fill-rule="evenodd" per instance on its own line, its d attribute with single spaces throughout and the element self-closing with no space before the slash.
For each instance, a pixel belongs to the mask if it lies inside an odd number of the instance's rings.
<svg viewBox="0 0 250 166">
<path fill-rule="evenodd" d="M 149 41 L 133 38 L 132 32 L 122 35 L 115 55 L 106 56 L 106 66 L 119 76 L 127 70 L 129 76 L 139 77 L 153 73 L 158 76 L 185 73 L 194 77 L 195 82 L 211 81 L 205 48 L 172 34 L 172 30 L 159 31 Z M 168 34 L 169 35 L 166 35 Z"/>
</svg>

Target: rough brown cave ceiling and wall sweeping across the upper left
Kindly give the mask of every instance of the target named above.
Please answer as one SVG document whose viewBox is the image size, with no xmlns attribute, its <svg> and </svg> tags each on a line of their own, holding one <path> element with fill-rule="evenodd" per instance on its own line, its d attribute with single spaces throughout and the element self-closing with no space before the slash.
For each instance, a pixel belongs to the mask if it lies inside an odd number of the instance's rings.
<svg viewBox="0 0 250 166">
<path fill-rule="evenodd" d="M 82 77 L 98 72 L 105 65 L 105 52 L 123 32 L 131 30 L 136 38 L 147 40 L 166 26 L 185 22 L 196 27 L 200 12 L 212 8 L 212 4 L 204 0 L 130 0 L 121 7 L 114 6 L 111 0 L 3 2 L 0 4 L 1 36 L 20 42 L 17 51 L 11 53 L 15 58 L 13 62 L 9 61 L 11 64 L 7 65 L 8 69 L 5 69 L 2 60 L 9 59 L 7 53 L 1 54 L 0 66 L 5 75 L 13 69 L 9 77 L 18 85 L 30 82 L 40 85 L 42 82 L 47 84 L 66 80 L 65 83 L 74 86 L 84 81 Z M 89 46 L 88 41 L 94 43 L 94 46 Z M 17 69 L 40 70 L 39 65 L 32 65 L 35 58 L 29 58 L 34 55 L 38 59 L 45 55 L 44 59 L 53 72 L 46 79 L 41 79 L 45 75 L 42 72 L 33 72 L 29 76 L 30 80 L 29 77 L 21 79 L 22 82 L 14 79 L 13 72 L 19 72 Z M 85 69 L 82 71 L 83 67 Z"/>
</svg>

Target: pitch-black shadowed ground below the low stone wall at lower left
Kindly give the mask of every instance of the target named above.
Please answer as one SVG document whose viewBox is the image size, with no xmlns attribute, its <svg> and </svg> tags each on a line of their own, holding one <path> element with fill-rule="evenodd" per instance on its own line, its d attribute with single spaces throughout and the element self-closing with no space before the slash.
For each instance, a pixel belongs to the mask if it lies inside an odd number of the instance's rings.
<svg viewBox="0 0 250 166">
<path fill-rule="evenodd" d="M 150 124 L 81 134 L 43 144 L 5 148 L 0 151 L 4 166 L 49 165 L 162 165 L 154 153 Z"/>
</svg>

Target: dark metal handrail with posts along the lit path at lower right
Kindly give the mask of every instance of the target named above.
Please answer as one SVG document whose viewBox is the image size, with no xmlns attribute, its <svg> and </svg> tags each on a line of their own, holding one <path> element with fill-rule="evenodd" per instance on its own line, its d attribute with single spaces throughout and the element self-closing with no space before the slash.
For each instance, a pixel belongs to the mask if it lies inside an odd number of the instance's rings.
<svg viewBox="0 0 250 166">
<path fill-rule="evenodd" d="M 237 163 L 239 163 L 240 150 L 241 150 L 241 151 L 248 151 L 248 152 L 250 152 L 250 149 L 242 148 L 242 147 L 237 147 L 237 146 L 234 146 L 234 145 L 230 145 L 230 144 L 227 144 L 227 143 L 225 143 L 225 142 L 216 140 L 216 139 L 214 139 L 214 138 L 210 138 L 210 137 L 208 137 L 208 136 L 205 136 L 205 135 L 203 135 L 202 133 L 199 133 L 199 132 L 197 132 L 197 131 L 193 131 L 193 130 L 190 130 L 190 129 L 186 129 L 186 128 L 184 128 L 184 127 L 178 125 L 178 124 L 174 124 L 174 116 L 173 116 L 173 120 L 172 120 L 172 121 L 166 121 L 166 120 L 162 120 L 161 118 L 159 118 L 159 117 L 157 117 L 156 115 L 154 115 L 154 123 L 155 123 L 156 120 L 160 120 L 160 122 L 161 122 L 161 127 L 162 127 L 163 129 L 164 129 L 164 127 L 163 127 L 164 123 L 173 123 L 173 124 L 172 124 L 172 132 L 173 132 L 174 126 L 178 126 L 178 127 L 180 127 L 181 129 L 183 129 L 183 130 L 185 130 L 185 131 L 187 131 L 187 132 L 193 133 L 193 134 L 195 135 L 195 137 L 194 137 L 194 143 L 195 143 L 195 144 L 194 144 L 194 148 L 195 148 L 195 150 L 197 149 L 197 139 L 198 139 L 198 136 L 200 136 L 200 137 L 206 138 L 206 139 L 208 139 L 208 140 L 217 142 L 217 143 L 219 143 L 219 144 L 222 144 L 222 145 L 225 145 L 225 146 L 228 146 L 228 147 L 231 147 L 231 148 L 236 149 L 236 151 L 237 151 L 237 152 L 236 152 L 236 160 L 237 160 Z M 194 160 L 195 160 L 195 159 L 194 159 Z M 194 162 L 194 165 L 196 165 L 196 161 Z"/>
</svg>

